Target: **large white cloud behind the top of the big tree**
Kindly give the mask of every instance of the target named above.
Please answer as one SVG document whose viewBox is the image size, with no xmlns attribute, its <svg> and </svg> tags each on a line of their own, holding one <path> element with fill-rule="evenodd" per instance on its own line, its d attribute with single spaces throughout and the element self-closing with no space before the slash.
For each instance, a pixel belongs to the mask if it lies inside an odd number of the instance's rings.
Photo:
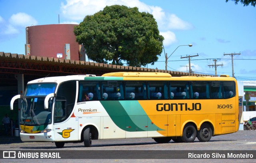
<svg viewBox="0 0 256 163">
<path fill-rule="evenodd" d="M 70 21 L 82 22 L 86 15 L 93 15 L 103 10 L 104 7 L 115 4 L 138 7 L 140 12 L 152 14 L 158 23 L 160 34 L 164 36 L 164 46 L 166 47 L 177 42 L 174 32 L 170 30 L 189 30 L 193 28 L 192 24 L 175 14 L 166 13 L 159 6 L 150 6 L 139 0 L 66 0 L 66 3 L 61 3 L 60 10 L 64 17 Z"/>
</svg>

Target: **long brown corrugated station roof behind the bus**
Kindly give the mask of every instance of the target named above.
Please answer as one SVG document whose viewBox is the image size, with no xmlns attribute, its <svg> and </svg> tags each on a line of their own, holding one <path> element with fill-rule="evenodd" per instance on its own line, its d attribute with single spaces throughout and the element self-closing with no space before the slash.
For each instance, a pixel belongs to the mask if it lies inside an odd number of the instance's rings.
<svg viewBox="0 0 256 163">
<path fill-rule="evenodd" d="M 46 76 L 67 76 L 71 74 L 94 74 L 101 76 L 110 72 L 165 72 L 172 76 L 209 76 L 187 72 L 0 52 L 0 84 L 3 84 L 3 82 L 7 85 L 13 82 L 16 83 L 14 74 L 24 74 L 24 78 L 26 78 L 24 82 L 27 83 L 27 81 Z"/>
</svg>

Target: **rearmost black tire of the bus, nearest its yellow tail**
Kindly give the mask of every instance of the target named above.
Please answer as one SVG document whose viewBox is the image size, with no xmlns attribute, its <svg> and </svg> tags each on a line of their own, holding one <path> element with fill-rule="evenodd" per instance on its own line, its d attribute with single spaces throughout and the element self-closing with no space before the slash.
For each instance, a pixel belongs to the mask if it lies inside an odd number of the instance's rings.
<svg viewBox="0 0 256 163">
<path fill-rule="evenodd" d="M 202 124 L 200 130 L 197 132 L 196 137 L 201 142 L 209 141 L 212 138 L 212 128 L 209 124 Z"/>
</svg>

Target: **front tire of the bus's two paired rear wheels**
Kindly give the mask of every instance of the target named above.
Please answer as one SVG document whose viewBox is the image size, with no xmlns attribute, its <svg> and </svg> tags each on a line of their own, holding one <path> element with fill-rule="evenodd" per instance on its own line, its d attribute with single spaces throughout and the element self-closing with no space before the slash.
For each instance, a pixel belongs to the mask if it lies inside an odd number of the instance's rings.
<svg viewBox="0 0 256 163">
<path fill-rule="evenodd" d="M 196 139 L 196 128 L 191 124 L 185 125 L 181 140 L 184 143 L 192 143 L 194 142 L 195 139 Z"/>
</svg>

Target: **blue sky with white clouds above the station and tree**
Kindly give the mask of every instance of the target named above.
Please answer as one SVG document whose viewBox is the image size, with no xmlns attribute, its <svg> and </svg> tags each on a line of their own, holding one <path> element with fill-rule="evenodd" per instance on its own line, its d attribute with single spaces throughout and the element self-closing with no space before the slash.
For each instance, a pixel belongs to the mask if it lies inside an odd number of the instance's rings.
<svg viewBox="0 0 256 163">
<path fill-rule="evenodd" d="M 164 50 L 153 66 L 165 70 L 164 51 L 172 54 L 168 70 L 192 71 L 198 74 L 234 76 L 238 80 L 256 80 L 256 8 L 225 0 L 0 0 L 0 52 L 25 54 L 25 27 L 58 24 L 79 24 L 105 6 L 114 4 L 138 7 L 141 12 L 154 15 L 160 34 L 164 36 Z"/>
</svg>

